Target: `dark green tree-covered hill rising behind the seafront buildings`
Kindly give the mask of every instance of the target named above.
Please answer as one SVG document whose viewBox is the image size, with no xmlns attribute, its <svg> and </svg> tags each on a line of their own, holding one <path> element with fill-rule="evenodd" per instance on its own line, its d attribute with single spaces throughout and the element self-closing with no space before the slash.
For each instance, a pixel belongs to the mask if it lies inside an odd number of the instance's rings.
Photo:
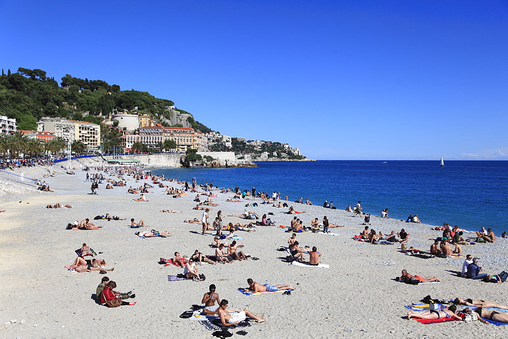
<svg viewBox="0 0 508 339">
<path fill-rule="evenodd" d="M 17 73 L 9 70 L 7 74 L 2 69 L 0 77 L 0 115 L 16 119 L 19 129 L 36 129 L 41 117 L 101 123 L 114 112 L 133 111 L 135 107 L 139 113 L 162 122 L 169 119 L 170 106 L 174 106 L 173 101 L 148 92 L 122 91 L 120 86 L 103 80 L 74 78 L 69 74 L 61 78 L 60 84 L 38 69 L 19 68 Z M 189 118 L 189 123 L 203 132 L 210 130 L 194 119 Z"/>
</svg>

